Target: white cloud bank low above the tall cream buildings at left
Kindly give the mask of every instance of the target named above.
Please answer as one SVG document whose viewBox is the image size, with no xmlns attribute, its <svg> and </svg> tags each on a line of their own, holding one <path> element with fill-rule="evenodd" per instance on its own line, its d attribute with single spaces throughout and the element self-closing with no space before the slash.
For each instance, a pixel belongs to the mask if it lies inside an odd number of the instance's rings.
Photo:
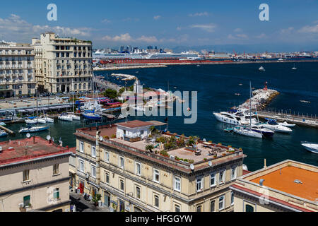
<svg viewBox="0 0 318 226">
<path fill-rule="evenodd" d="M 37 37 L 40 33 L 47 31 L 56 32 L 59 35 L 88 37 L 91 30 L 90 28 L 33 25 L 15 14 L 11 14 L 8 18 L 0 18 L 0 33 L 6 40 L 14 42 L 30 42 L 32 37 Z"/>
</svg>

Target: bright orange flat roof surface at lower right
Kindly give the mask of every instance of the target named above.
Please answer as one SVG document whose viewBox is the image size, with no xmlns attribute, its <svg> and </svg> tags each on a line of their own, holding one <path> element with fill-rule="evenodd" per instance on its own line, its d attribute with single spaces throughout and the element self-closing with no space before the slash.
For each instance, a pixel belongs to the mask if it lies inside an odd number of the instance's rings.
<svg viewBox="0 0 318 226">
<path fill-rule="evenodd" d="M 300 167 L 286 166 L 261 177 L 252 179 L 251 182 L 259 184 L 264 179 L 264 186 L 283 191 L 285 193 L 316 201 L 318 198 L 318 172 Z M 295 183 L 298 179 L 302 184 Z"/>
</svg>

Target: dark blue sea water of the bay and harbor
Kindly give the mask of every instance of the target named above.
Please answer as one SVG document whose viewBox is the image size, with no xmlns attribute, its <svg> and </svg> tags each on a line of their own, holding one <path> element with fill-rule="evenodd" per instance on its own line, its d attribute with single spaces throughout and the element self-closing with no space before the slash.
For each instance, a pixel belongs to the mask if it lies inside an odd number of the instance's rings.
<svg viewBox="0 0 318 226">
<path fill-rule="evenodd" d="M 232 145 L 242 148 L 247 155 L 245 164 L 249 170 L 260 169 L 266 164 L 272 165 L 282 160 L 290 159 L 318 165 L 318 155 L 304 150 L 300 141 L 318 142 L 318 129 L 296 126 L 290 135 L 276 133 L 273 138 L 256 139 L 227 133 L 222 124 L 213 117 L 212 112 L 227 110 L 240 105 L 249 98 L 249 81 L 252 87 L 263 88 L 265 81 L 269 88 L 278 90 L 281 94 L 268 106 L 288 112 L 300 112 L 318 116 L 318 63 L 304 62 L 296 64 L 298 70 L 293 71 L 293 63 L 263 64 L 266 71 L 258 71 L 261 64 L 228 64 L 228 65 L 184 65 L 167 66 L 167 68 L 132 69 L 120 71 L 98 71 L 96 75 L 106 76 L 111 73 L 126 73 L 137 76 L 145 87 L 162 88 L 175 91 L 198 92 L 198 119 L 196 124 L 184 124 L 184 117 L 169 117 L 169 131 L 184 133 L 186 136 L 200 136 L 207 141 Z M 109 81 L 124 85 L 112 76 Z M 131 85 L 132 82 L 127 85 Z M 242 83 L 242 85 L 239 85 Z M 240 96 L 235 95 L 240 93 Z M 310 103 L 303 103 L 307 100 Z M 131 117 L 141 120 L 164 121 L 165 117 Z M 18 131 L 23 124 L 8 126 Z M 51 125 L 51 136 L 56 140 L 61 137 L 64 145 L 76 145 L 72 136 L 76 128 L 87 126 L 83 122 L 55 121 Z M 36 134 L 46 137 L 48 132 Z M 25 135 L 18 134 L 16 138 Z M 0 138 L 4 141 L 8 138 Z"/>
</svg>

